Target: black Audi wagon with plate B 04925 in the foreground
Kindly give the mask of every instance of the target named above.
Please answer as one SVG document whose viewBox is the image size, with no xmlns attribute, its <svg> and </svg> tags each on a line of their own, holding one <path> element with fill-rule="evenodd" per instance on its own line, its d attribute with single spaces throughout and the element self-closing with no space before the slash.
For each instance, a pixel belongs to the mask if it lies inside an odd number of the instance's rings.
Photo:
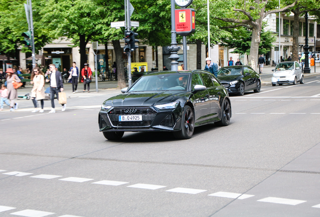
<svg viewBox="0 0 320 217">
<path fill-rule="evenodd" d="M 126 131 L 166 131 L 190 139 L 195 127 L 230 122 L 228 92 L 206 71 L 148 73 L 121 92 L 105 100 L 99 113 L 99 129 L 108 140 Z"/>
</svg>

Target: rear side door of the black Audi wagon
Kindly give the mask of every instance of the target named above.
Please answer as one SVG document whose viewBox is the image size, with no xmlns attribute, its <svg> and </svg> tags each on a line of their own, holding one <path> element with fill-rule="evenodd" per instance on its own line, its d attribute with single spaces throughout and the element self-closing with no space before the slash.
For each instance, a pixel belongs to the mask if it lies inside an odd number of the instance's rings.
<svg viewBox="0 0 320 217">
<path fill-rule="evenodd" d="M 220 112 L 219 94 L 221 94 L 221 92 L 219 93 L 219 90 L 217 90 L 216 87 L 214 86 L 212 81 L 213 76 L 205 73 L 200 73 L 200 76 L 209 92 L 209 101 L 210 101 L 210 114 L 209 114 L 210 118 L 209 119 L 212 119 L 213 121 L 213 119 L 218 117 Z"/>
</svg>

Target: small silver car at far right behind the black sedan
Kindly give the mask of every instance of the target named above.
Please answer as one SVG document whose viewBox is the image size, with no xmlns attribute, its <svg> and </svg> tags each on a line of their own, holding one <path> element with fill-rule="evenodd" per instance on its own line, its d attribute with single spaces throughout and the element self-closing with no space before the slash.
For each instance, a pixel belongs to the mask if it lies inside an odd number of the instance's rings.
<svg viewBox="0 0 320 217">
<path fill-rule="evenodd" d="M 297 84 L 297 82 L 300 82 L 300 84 L 304 83 L 303 72 L 297 61 L 280 62 L 272 71 L 272 86 L 284 83 L 292 83 L 293 85 Z"/>
</svg>

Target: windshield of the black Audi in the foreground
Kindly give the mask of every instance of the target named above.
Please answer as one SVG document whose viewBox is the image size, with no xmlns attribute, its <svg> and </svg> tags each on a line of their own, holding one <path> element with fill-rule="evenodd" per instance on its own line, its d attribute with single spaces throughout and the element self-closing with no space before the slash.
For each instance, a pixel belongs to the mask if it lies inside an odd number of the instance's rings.
<svg viewBox="0 0 320 217">
<path fill-rule="evenodd" d="M 187 90 L 189 74 L 156 74 L 145 75 L 129 89 L 136 91 Z"/>
</svg>

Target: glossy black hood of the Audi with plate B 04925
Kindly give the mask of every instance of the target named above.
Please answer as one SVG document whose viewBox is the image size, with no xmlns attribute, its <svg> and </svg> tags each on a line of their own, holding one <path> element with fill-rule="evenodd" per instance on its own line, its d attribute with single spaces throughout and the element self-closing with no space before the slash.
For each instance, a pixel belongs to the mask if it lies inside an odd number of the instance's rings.
<svg viewBox="0 0 320 217">
<path fill-rule="evenodd" d="M 174 102 L 186 94 L 186 91 L 128 92 L 113 96 L 104 104 L 119 106 L 150 106 Z"/>
</svg>

